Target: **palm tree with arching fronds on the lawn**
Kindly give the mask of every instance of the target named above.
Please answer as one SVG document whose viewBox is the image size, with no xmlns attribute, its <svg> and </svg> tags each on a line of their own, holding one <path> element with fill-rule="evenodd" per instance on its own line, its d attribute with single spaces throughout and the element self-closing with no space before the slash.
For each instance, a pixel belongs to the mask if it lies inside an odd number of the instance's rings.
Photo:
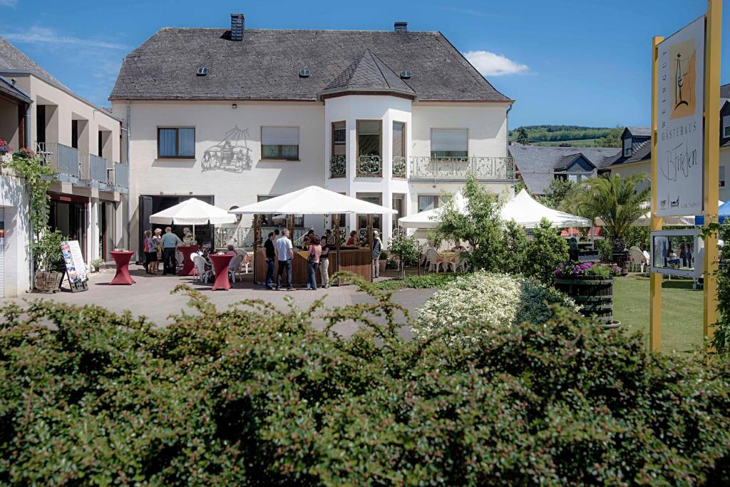
<svg viewBox="0 0 730 487">
<path fill-rule="evenodd" d="M 604 175 L 577 185 L 564 201 L 564 210 L 596 221 L 600 218 L 614 252 L 623 251 L 629 227 L 647 211 L 650 188 L 639 189 L 645 175 Z"/>
</svg>

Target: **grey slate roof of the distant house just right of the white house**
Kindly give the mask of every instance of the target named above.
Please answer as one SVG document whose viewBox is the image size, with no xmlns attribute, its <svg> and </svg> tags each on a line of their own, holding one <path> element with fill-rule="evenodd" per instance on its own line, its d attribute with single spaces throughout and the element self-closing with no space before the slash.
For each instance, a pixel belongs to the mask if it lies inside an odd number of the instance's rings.
<svg viewBox="0 0 730 487">
<path fill-rule="evenodd" d="M 528 190 L 532 194 L 545 194 L 545 188 L 558 171 L 583 156 L 600 169 L 615 156 L 616 147 L 540 147 L 537 145 L 510 145 L 510 155 Z M 566 161 L 569 161 L 566 163 Z"/>
</svg>

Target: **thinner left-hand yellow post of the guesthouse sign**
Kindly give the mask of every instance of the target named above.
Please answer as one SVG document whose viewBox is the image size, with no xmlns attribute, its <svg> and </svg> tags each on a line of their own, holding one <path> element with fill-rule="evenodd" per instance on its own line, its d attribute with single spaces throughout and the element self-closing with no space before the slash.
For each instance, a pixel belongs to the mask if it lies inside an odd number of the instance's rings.
<svg viewBox="0 0 730 487">
<path fill-rule="evenodd" d="M 656 181 L 658 166 L 656 131 L 658 127 L 659 43 L 664 37 L 654 37 L 651 47 L 651 231 L 661 230 L 661 218 L 656 216 Z M 655 256 L 651 256 L 653 259 Z M 654 264 L 653 260 L 650 262 Z M 661 274 L 651 272 L 649 277 L 649 350 L 661 350 Z"/>
</svg>

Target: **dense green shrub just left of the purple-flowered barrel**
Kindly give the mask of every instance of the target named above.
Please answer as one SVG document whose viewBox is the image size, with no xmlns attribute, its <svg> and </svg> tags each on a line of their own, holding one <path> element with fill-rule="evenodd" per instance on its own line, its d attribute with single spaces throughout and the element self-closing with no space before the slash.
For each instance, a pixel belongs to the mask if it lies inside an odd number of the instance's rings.
<svg viewBox="0 0 730 487">
<path fill-rule="evenodd" d="M 569 259 L 568 245 L 546 218 L 542 218 L 532 235 L 525 253 L 525 275 L 552 285 L 556 267 Z"/>
</svg>

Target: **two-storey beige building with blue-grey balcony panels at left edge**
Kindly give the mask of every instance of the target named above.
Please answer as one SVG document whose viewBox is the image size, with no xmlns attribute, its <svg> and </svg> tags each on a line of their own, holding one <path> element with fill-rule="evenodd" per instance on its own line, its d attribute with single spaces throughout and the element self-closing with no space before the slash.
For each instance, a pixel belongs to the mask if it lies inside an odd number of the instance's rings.
<svg viewBox="0 0 730 487">
<path fill-rule="evenodd" d="M 14 149 L 35 150 L 58 172 L 50 190 L 50 225 L 79 240 L 87 263 L 99 257 L 110 261 L 110 250 L 128 246 L 129 166 L 120 120 L 66 88 L 2 37 L 0 77 L 0 138 L 8 137 Z M 3 89 L 8 83 L 25 97 L 23 115 Z M 13 123 L 19 123 L 15 131 Z M 8 221 L 6 215 L 4 233 L 17 234 Z"/>
</svg>

